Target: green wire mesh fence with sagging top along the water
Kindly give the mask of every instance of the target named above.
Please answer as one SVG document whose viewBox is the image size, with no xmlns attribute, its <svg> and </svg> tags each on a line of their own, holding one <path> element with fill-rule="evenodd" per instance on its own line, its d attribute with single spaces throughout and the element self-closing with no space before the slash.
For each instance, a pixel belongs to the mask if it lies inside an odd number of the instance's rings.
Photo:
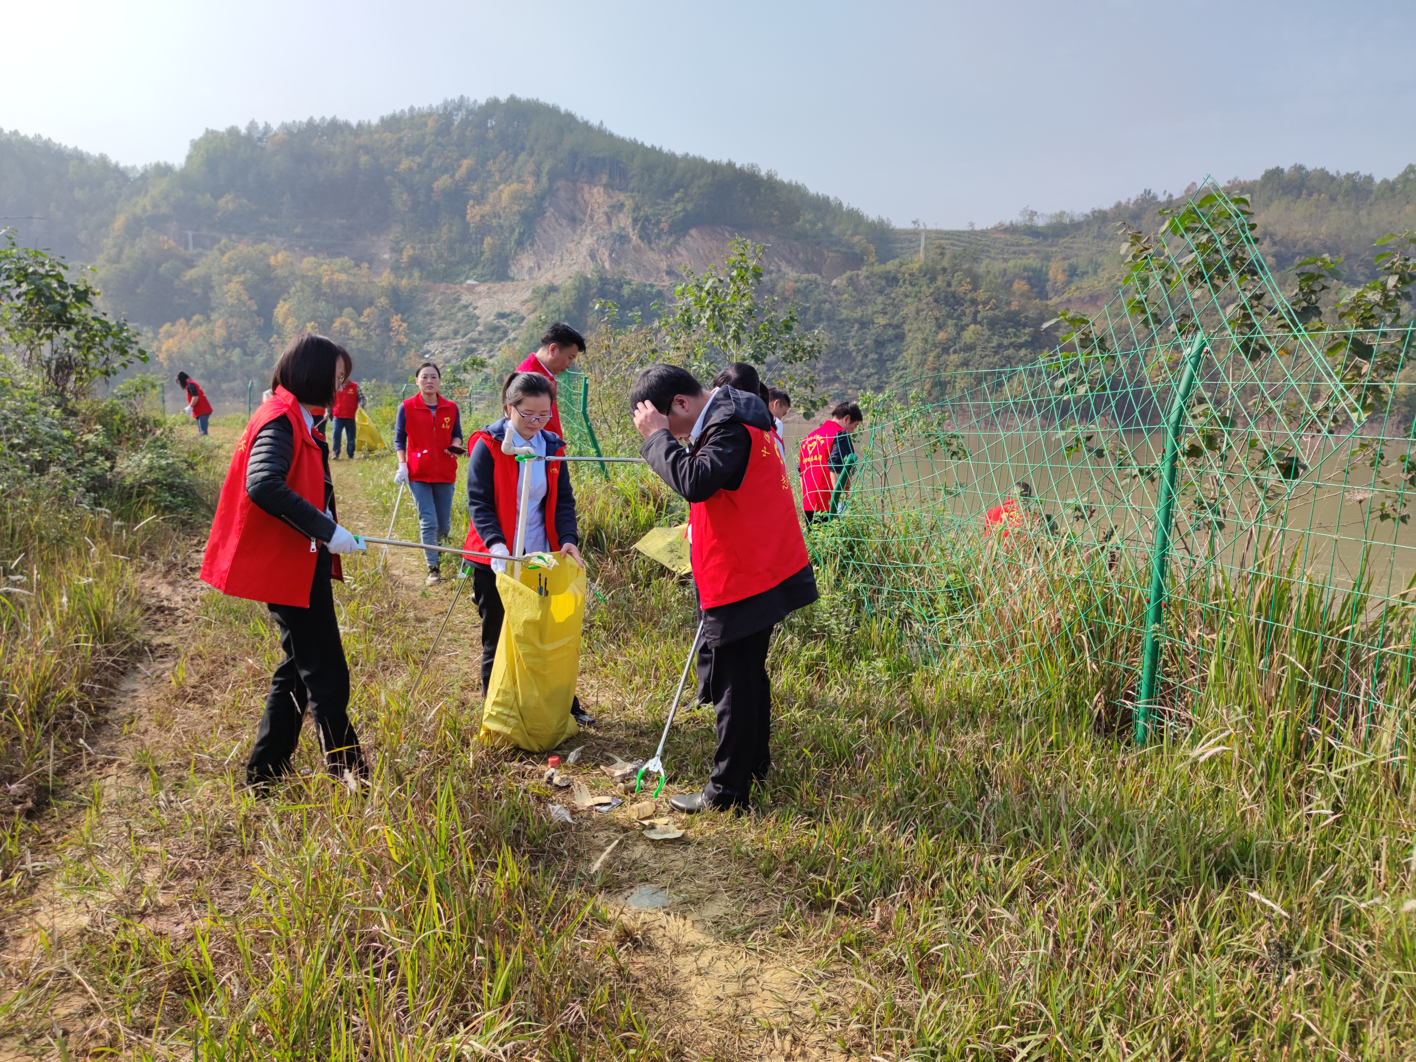
<svg viewBox="0 0 1416 1062">
<path fill-rule="evenodd" d="M 1048 357 L 877 402 L 816 559 L 912 644 L 1085 698 L 1137 741 L 1216 690 L 1313 732 L 1399 728 L 1410 259 L 1332 306 L 1332 262 L 1286 296 L 1252 228 L 1206 184 L 1130 234 L 1121 290 L 1063 314 Z"/>
</svg>

